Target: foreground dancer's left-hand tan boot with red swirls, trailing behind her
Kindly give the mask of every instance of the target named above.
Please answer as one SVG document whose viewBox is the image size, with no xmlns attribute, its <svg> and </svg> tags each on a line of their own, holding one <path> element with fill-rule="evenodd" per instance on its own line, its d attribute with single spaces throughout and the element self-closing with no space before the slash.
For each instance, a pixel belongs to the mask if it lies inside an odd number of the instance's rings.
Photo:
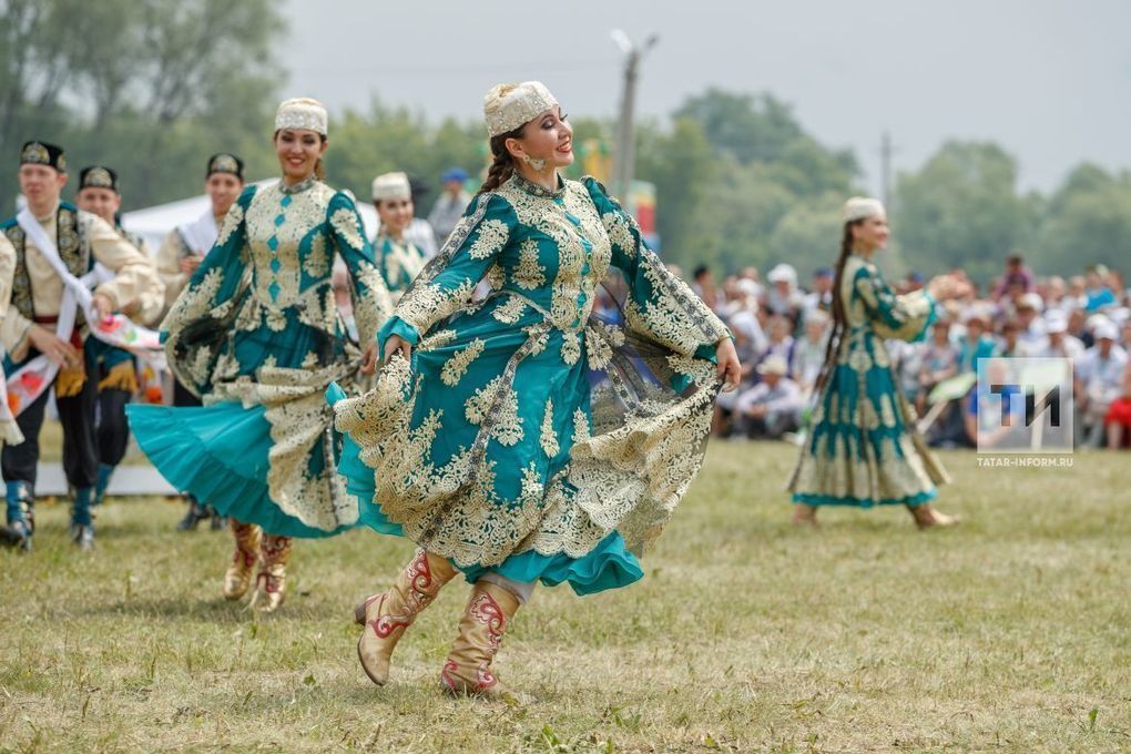
<svg viewBox="0 0 1131 754">
<path fill-rule="evenodd" d="M 357 640 L 357 659 L 370 681 L 378 686 L 389 682 L 389 660 L 400 636 L 455 575 L 448 558 L 417 549 L 388 591 L 354 609 L 354 621 L 365 626 Z"/>
</svg>

